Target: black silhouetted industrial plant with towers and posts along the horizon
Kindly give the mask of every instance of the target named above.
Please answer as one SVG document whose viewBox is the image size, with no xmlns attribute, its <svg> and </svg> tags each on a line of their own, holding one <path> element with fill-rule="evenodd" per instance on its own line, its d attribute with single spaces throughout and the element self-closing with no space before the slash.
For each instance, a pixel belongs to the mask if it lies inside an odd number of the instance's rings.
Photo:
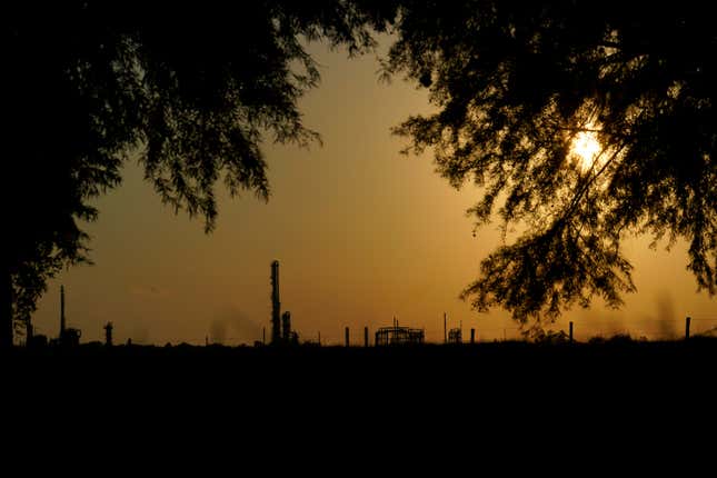
<svg viewBox="0 0 717 478">
<path fill-rule="evenodd" d="M 470 329 L 470 339 L 465 341 L 462 337 L 462 323 L 459 327 L 449 328 L 447 315 L 444 313 L 444 340 L 442 343 L 429 343 L 426 341 L 426 331 L 422 328 L 414 328 L 406 325 L 399 325 L 396 317 L 390 326 L 379 327 L 375 330 L 372 337 L 369 328 L 364 327 L 364 340 L 361 342 L 351 342 L 350 329 L 343 330 L 343 342 L 341 345 L 326 346 L 319 340 L 300 340 L 300 335 L 292 328 L 292 316 L 289 310 L 281 309 L 280 293 L 280 267 L 279 261 L 273 260 L 270 263 L 270 301 L 271 316 L 267 323 L 270 326 L 269 340 L 267 340 L 267 328 L 262 330 L 261 340 L 255 340 L 252 347 L 248 345 L 223 346 L 221 343 L 210 343 L 207 339 L 205 346 L 192 346 L 186 342 L 175 345 L 167 343 L 158 347 L 148 343 L 133 343 L 128 338 L 126 343 L 114 343 L 113 330 L 116 325 L 107 322 L 103 326 L 104 341 L 81 342 L 82 331 L 74 327 L 68 326 L 66 317 L 66 290 L 60 287 L 60 320 L 59 332 L 57 337 L 48 338 L 44 335 L 34 333 L 31 321 L 26 323 L 24 347 L 17 347 L 14 353 L 24 359 L 32 357 L 48 356 L 77 356 L 90 359 L 94 355 L 102 357 L 157 357 L 169 355 L 178 357 L 182 353 L 187 357 L 198 358 L 201 356 L 213 357 L 219 353 L 222 357 L 230 357 L 235 353 L 242 360 L 249 360 L 253 367 L 262 368 L 276 360 L 282 361 L 288 357 L 297 359 L 298 357 L 311 357 L 311 360 L 326 360 L 328 364 L 338 364 L 341 360 L 358 360 L 372 362 L 376 358 L 388 359 L 389 357 L 410 358 L 410 360 L 424 361 L 425 359 L 435 360 L 437 364 L 444 359 L 465 361 L 461 368 L 472 364 L 484 366 L 484 361 L 490 357 L 500 356 L 501 369 L 509 362 L 522 362 L 526 356 L 535 358 L 557 357 L 565 355 L 566 362 L 561 367 L 572 367 L 577 358 L 591 362 L 605 360 L 608 365 L 616 360 L 615 357 L 634 358 L 641 361 L 645 357 L 655 359 L 656 357 L 669 356 L 676 353 L 673 358 L 683 360 L 686 358 L 683 353 L 709 353 L 717 358 L 717 340 L 710 335 L 690 335 L 691 318 L 685 319 L 685 335 L 679 340 L 647 341 L 645 339 L 633 339 L 627 335 L 617 335 L 613 338 L 596 337 L 585 342 L 578 342 L 574 339 L 574 322 L 569 322 L 569 330 L 566 331 L 541 331 L 534 335 L 531 340 L 502 340 L 502 341 L 479 341 L 476 329 Z M 121 327 L 121 323 L 120 323 Z M 319 346 L 319 347 L 317 347 Z M 221 352 L 218 352 L 221 350 Z M 318 351 L 317 351 L 318 350 Z M 605 350 L 620 350 L 615 357 L 603 357 Z M 627 355 L 623 355 L 627 353 Z M 480 359 L 479 359 L 480 358 Z M 478 360 L 477 362 L 474 362 Z M 656 362 L 659 362 L 657 360 Z"/>
</svg>

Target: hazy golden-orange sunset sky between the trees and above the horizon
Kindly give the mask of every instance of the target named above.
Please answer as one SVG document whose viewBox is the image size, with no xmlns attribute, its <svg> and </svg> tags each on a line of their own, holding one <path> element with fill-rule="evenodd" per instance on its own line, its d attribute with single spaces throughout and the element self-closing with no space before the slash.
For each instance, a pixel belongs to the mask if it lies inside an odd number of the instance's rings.
<svg viewBox="0 0 717 478">
<path fill-rule="evenodd" d="M 76 266 L 50 281 L 33 316 L 38 333 L 59 330 L 60 285 L 69 327 L 81 340 L 136 343 L 253 343 L 270 336 L 270 263 L 280 262 L 281 308 L 291 311 L 300 340 L 351 342 L 400 325 L 425 328 L 428 341 L 448 328 L 476 329 L 479 341 L 519 337 L 504 310 L 478 313 L 458 298 L 478 277 L 479 263 L 500 245 L 497 223 L 474 237 L 466 210 L 479 198 L 468 183 L 454 189 L 435 172 L 430 152 L 401 156 L 406 139 L 390 128 L 409 114 L 430 112 L 425 90 L 378 79 L 377 58 L 348 59 L 320 43 L 309 50 L 321 64 L 321 84 L 299 102 L 305 126 L 323 146 L 265 145 L 271 197 L 230 199 L 218 186 L 219 218 L 206 235 L 201 218 L 175 215 L 142 179 L 136 162 L 122 186 L 98 199 L 97 222 L 87 225 L 93 266 Z M 685 269 L 684 243 L 670 252 L 648 248 L 648 238 L 626 241 L 637 293 L 619 310 L 601 302 L 564 312 L 554 330 L 575 322 L 575 336 L 630 333 L 649 339 L 717 327 L 717 301 L 698 293 Z"/>
</svg>

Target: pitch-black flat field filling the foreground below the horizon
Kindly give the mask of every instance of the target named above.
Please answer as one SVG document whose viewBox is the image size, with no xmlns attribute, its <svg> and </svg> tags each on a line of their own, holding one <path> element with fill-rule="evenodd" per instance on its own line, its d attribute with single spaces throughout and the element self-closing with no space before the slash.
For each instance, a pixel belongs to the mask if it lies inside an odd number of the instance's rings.
<svg viewBox="0 0 717 478">
<path fill-rule="evenodd" d="M 126 434 L 131 438 L 120 440 L 121 449 L 219 441 L 246 460 L 280 444 L 302 450 L 306 459 L 323 459 L 338 448 L 349 461 L 360 458 L 357 450 L 468 447 L 466 459 L 487 462 L 488 450 L 560 455 L 570 447 L 597 457 L 591 459 L 617 459 L 616 450 L 633 457 L 646 444 L 715 444 L 716 367 L 717 341 L 710 339 L 80 346 L 0 356 L 13 432 L 36 432 L 22 444 L 81 429 L 79 436 L 94 446 Z"/>
</svg>

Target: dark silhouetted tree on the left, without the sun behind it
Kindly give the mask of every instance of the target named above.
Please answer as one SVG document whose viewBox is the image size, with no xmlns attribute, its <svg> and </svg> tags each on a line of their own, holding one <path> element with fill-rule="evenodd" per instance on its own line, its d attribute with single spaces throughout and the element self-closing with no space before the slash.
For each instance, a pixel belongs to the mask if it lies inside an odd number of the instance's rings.
<svg viewBox="0 0 717 478">
<path fill-rule="evenodd" d="M 86 260 L 77 221 L 96 219 L 89 201 L 130 152 L 165 202 L 211 230 L 218 180 L 268 198 L 262 139 L 318 139 L 297 110 L 319 80 L 301 39 L 365 51 L 394 13 L 341 0 L 3 6 L 0 345 L 48 278 Z"/>
</svg>

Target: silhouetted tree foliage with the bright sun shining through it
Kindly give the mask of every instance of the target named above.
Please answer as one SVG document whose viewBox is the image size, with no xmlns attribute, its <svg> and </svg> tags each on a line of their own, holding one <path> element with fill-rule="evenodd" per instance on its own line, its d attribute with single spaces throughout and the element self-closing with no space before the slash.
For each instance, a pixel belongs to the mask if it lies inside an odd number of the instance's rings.
<svg viewBox="0 0 717 478">
<path fill-rule="evenodd" d="M 505 231 L 464 298 L 522 323 L 596 295 L 618 306 L 635 290 L 629 232 L 684 238 L 715 292 L 717 27 L 703 4 L 404 4 L 386 70 L 439 110 L 396 132 L 455 187 L 481 187 L 476 227 L 497 215 Z M 581 133 L 603 146 L 589 165 L 571 153 Z"/>
</svg>

